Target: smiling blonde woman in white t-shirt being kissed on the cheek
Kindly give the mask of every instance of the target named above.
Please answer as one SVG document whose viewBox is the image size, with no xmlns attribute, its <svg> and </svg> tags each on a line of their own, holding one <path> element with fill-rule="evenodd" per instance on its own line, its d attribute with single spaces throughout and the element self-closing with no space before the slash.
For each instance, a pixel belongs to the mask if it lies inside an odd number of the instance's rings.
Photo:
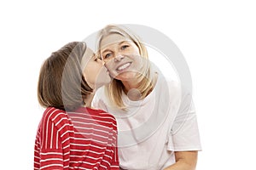
<svg viewBox="0 0 256 170">
<path fill-rule="evenodd" d="M 190 94 L 166 82 L 125 26 L 104 27 L 97 48 L 113 81 L 97 91 L 92 105 L 117 118 L 120 167 L 195 169 L 201 143 Z"/>
</svg>

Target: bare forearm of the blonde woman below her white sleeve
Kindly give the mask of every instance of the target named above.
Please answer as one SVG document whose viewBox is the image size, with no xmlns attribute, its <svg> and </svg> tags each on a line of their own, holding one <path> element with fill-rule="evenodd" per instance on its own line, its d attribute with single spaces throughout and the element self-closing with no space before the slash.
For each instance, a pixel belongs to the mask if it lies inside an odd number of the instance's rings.
<svg viewBox="0 0 256 170">
<path fill-rule="evenodd" d="M 165 170 L 195 170 L 197 151 L 176 151 L 176 163 Z"/>
</svg>

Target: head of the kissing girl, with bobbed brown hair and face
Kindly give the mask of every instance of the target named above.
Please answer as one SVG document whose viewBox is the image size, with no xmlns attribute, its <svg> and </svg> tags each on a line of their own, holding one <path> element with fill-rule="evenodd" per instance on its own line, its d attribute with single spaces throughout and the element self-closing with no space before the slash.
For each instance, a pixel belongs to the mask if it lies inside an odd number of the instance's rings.
<svg viewBox="0 0 256 170">
<path fill-rule="evenodd" d="M 44 61 L 38 79 L 38 101 L 44 107 L 73 111 L 84 105 L 96 86 L 110 80 L 103 61 L 96 59 L 84 42 L 69 42 Z"/>
</svg>

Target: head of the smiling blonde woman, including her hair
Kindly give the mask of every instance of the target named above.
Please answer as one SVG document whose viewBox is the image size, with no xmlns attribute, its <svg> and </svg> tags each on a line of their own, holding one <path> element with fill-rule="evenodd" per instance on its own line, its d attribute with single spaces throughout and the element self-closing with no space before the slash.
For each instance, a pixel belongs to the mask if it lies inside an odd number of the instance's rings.
<svg viewBox="0 0 256 170">
<path fill-rule="evenodd" d="M 120 97 L 125 91 L 123 82 L 136 82 L 142 97 L 148 95 L 153 88 L 148 52 L 134 33 L 124 26 L 109 25 L 99 32 L 96 45 L 113 77 L 108 94 L 114 105 L 125 108 Z"/>
</svg>

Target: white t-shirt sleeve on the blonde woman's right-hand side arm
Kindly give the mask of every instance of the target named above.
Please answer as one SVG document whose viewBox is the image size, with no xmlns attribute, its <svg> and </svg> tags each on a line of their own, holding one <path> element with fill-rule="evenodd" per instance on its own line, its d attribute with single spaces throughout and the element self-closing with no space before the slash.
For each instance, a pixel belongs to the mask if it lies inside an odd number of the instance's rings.
<svg viewBox="0 0 256 170">
<path fill-rule="evenodd" d="M 168 139 L 168 150 L 201 150 L 195 106 L 190 94 L 183 94 Z"/>
</svg>

